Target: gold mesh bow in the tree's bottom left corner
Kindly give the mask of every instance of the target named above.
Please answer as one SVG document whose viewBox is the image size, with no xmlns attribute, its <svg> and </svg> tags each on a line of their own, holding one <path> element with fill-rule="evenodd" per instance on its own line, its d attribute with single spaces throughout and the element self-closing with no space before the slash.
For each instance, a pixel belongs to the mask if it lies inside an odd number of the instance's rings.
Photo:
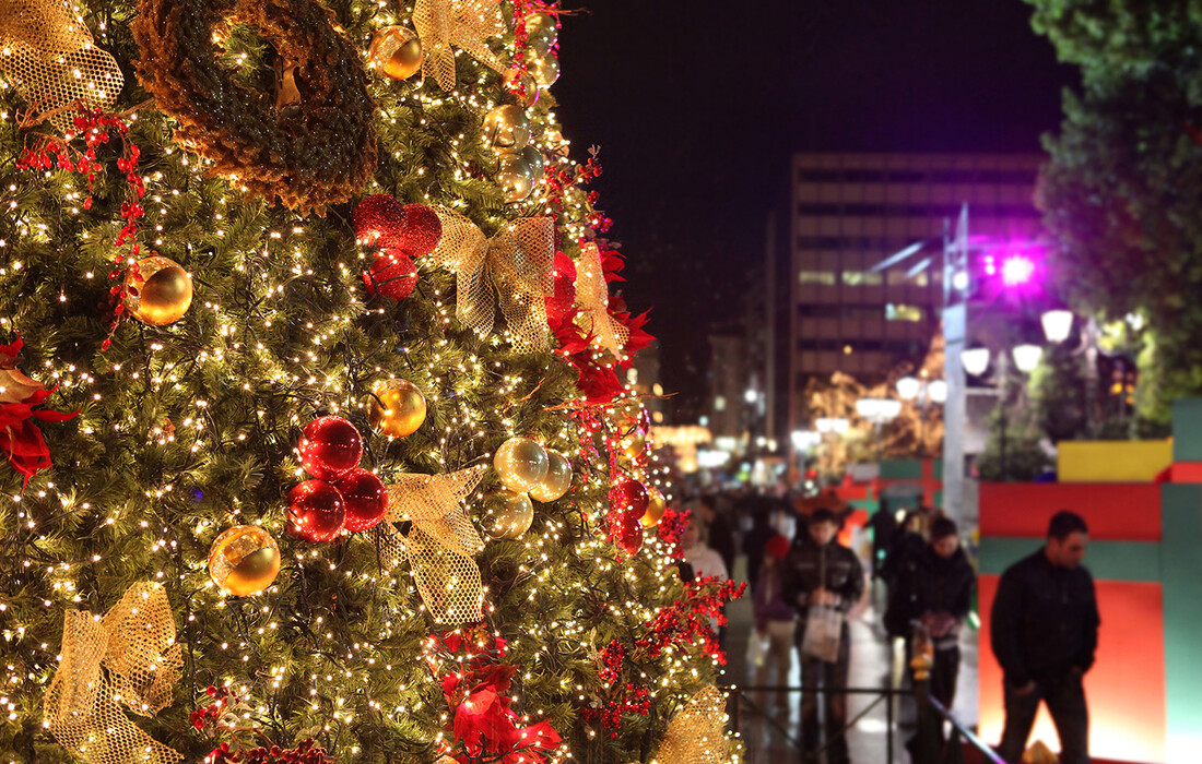
<svg viewBox="0 0 1202 764">
<path fill-rule="evenodd" d="M 153 716 L 171 703 L 184 664 L 162 586 L 130 586 L 103 617 L 69 610 L 59 670 L 46 693 L 46 723 L 63 747 L 90 764 L 172 764 L 184 759 L 125 715 Z"/>
</svg>

